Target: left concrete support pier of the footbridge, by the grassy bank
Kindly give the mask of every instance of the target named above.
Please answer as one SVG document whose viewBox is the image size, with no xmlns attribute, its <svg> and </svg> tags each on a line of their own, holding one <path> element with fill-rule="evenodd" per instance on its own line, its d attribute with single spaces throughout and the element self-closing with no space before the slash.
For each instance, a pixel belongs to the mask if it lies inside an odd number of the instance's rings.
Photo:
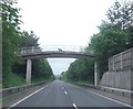
<svg viewBox="0 0 133 109">
<path fill-rule="evenodd" d="M 32 66 L 32 62 L 31 59 L 27 59 L 27 84 L 31 84 L 31 66 Z"/>
</svg>

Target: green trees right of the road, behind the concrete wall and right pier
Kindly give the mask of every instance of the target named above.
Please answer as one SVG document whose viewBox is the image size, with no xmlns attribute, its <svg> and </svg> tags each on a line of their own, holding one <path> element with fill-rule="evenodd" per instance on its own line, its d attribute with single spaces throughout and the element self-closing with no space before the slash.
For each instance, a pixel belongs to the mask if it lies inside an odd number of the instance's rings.
<svg viewBox="0 0 133 109">
<path fill-rule="evenodd" d="M 86 53 L 93 52 L 95 58 L 92 61 L 76 59 L 66 72 L 62 73 L 63 79 L 93 81 L 94 62 L 98 63 L 98 69 L 102 77 L 103 73 L 108 70 L 109 57 L 133 47 L 132 14 L 133 6 L 130 1 L 115 1 L 106 13 L 108 21 L 102 22 L 99 26 L 100 32 L 91 37 L 89 46 L 84 50 Z"/>
</svg>

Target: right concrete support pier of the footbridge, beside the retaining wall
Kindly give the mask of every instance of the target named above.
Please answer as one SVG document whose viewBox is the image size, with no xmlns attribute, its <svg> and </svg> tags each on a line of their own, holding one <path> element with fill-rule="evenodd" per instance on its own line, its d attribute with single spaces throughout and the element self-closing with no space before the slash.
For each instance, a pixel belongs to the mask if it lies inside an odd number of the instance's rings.
<svg viewBox="0 0 133 109">
<path fill-rule="evenodd" d="M 100 84 L 100 72 L 98 70 L 98 64 L 94 63 L 94 85 L 98 86 Z"/>
</svg>

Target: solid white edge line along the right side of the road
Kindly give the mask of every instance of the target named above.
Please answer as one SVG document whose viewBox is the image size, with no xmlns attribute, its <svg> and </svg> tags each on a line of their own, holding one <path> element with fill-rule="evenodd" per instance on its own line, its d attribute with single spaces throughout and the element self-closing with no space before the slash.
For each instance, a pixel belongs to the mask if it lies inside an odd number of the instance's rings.
<svg viewBox="0 0 133 109">
<path fill-rule="evenodd" d="M 72 84 L 69 84 L 69 85 L 82 89 L 81 87 L 74 86 L 74 85 L 72 85 Z M 82 89 L 82 90 L 85 90 L 85 89 Z M 124 106 L 126 106 L 126 107 L 131 107 L 131 108 L 133 108 L 131 105 L 124 103 L 124 102 L 119 101 L 119 100 L 115 100 L 115 99 L 113 99 L 113 98 L 105 97 L 105 96 L 103 96 L 103 95 L 100 95 L 100 94 L 96 94 L 96 92 L 93 92 L 93 91 L 90 91 L 90 90 L 86 90 L 86 91 L 89 91 L 89 92 L 91 92 L 91 94 L 94 94 L 94 95 L 98 95 L 98 96 L 100 96 L 100 97 L 103 97 L 103 98 L 105 98 L 105 99 L 109 99 L 109 100 L 112 100 L 112 101 L 119 102 L 119 103 L 124 105 Z"/>
</svg>

